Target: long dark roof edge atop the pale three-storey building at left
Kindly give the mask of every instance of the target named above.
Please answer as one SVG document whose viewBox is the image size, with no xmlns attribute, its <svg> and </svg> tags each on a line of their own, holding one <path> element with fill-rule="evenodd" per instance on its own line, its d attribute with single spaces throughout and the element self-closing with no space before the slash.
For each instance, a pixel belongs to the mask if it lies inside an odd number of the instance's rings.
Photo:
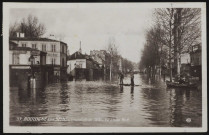
<svg viewBox="0 0 209 135">
<path fill-rule="evenodd" d="M 19 40 L 19 41 L 48 41 L 48 42 L 60 42 L 63 43 L 65 45 L 67 45 L 66 43 L 62 42 L 62 41 L 58 41 L 58 40 L 54 40 L 54 39 L 49 39 L 49 38 L 27 38 L 27 37 L 14 37 L 14 38 L 10 38 L 9 40 Z"/>
</svg>

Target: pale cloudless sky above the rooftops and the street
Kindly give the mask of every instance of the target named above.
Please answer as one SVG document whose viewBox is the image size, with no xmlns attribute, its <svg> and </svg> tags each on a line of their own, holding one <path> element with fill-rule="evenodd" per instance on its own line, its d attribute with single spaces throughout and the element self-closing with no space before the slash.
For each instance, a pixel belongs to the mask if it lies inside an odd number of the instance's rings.
<svg viewBox="0 0 209 135">
<path fill-rule="evenodd" d="M 153 9 L 135 6 L 69 8 L 12 8 L 10 24 L 26 18 L 38 17 L 46 26 L 44 37 L 55 35 L 68 44 L 70 54 L 81 47 L 82 52 L 107 48 L 114 39 L 122 57 L 139 62 L 146 41 L 146 30 L 152 25 Z"/>
</svg>

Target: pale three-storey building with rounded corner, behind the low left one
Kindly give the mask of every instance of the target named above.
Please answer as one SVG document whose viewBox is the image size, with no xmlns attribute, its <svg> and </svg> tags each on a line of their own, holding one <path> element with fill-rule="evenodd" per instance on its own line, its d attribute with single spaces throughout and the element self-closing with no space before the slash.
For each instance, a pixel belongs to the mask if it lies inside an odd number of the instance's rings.
<svg viewBox="0 0 209 135">
<path fill-rule="evenodd" d="M 18 47 L 27 47 L 46 52 L 46 65 L 48 74 L 53 74 L 58 79 L 66 78 L 67 70 L 67 44 L 62 41 L 47 38 L 11 38 L 11 42 L 16 43 Z M 51 77 L 50 77 L 51 78 Z"/>
</svg>

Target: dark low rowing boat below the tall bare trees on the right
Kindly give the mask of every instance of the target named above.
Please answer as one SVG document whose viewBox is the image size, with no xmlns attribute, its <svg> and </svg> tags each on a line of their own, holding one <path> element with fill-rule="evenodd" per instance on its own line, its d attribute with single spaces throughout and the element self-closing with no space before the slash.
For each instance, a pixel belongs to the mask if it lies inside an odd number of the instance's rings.
<svg viewBox="0 0 209 135">
<path fill-rule="evenodd" d="M 170 81 L 166 81 L 166 85 L 167 87 L 176 87 L 176 88 L 196 88 L 197 85 L 196 84 L 188 84 L 188 83 L 183 83 L 180 84 L 178 82 L 170 82 Z"/>
</svg>

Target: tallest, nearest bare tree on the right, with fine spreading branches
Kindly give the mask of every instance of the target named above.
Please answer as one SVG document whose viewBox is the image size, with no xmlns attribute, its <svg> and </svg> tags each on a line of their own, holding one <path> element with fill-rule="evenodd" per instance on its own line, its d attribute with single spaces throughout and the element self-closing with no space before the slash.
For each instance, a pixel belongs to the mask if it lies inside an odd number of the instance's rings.
<svg viewBox="0 0 209 135">
<path fill-rule="evenodd" d="M 188 52 L 192 45 L 200 42 L 200 9 L 167 8 L 156 9 L 156 23 L 165 34 L 162 43 L 169 48 L 170 81 L 172 81 L 172 59 L 174 73 L 180 74 L 181 54 Z"/>
</svg>

